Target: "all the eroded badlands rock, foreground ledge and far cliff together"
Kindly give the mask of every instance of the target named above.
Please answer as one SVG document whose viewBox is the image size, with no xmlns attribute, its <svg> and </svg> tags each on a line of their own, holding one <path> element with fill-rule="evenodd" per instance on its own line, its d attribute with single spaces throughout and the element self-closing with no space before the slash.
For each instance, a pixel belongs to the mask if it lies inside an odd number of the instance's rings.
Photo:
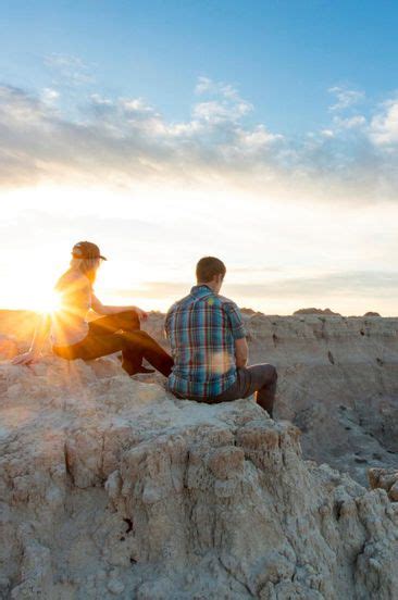
<svg viewBox="0 0 398 600">
<path fill-rule="evenodd" d="M 35 315 L 0 313 L 0 598 L 398 598 L 398 318 L 245 318 L 275 422 L 113 358 L 12 366 Z"/>
</svg>

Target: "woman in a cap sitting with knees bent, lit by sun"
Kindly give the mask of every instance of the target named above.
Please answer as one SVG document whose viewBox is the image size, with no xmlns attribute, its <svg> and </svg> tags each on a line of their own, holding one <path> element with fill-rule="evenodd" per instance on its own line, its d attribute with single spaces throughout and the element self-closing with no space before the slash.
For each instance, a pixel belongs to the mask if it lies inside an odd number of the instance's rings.
<svg viewBox="0 0 398 600">
<path fill-rule="evenodd" d="M 60 310 L 42 320 L 30 350 L 16 357 L 14 364 L 37 362 L 51 327 L 52 351 L 58 357 L 90 361 L 122 351 L 122 366 L 128 375 L 149 372 L 142 366 L 142 359 L 166 377 L 170 375 L 173 359 L 139 329 L 140 320 L 148 314 L 137 307 L 105 307 L 96 297 L 92 285 L 103 260 L 107 259 L 96 243 L 80 241 L 73 247 L 70 268 L 55 286 Z M 88 323 L 90 309 L 105 316 Z"/>
</svg>

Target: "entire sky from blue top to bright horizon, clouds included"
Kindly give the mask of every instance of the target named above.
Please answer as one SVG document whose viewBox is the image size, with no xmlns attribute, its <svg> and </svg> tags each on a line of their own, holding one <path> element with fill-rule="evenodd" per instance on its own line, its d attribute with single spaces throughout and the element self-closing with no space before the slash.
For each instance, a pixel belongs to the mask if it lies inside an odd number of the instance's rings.
<svg viewBox="0 0 398 600">
<path fill-rule="evenodd" d="M 0 307 L 40 308 L 73 243 L 104 302 L 223 292 L 397 314 L 393 1 L 2 2 Z"/>
</svg>

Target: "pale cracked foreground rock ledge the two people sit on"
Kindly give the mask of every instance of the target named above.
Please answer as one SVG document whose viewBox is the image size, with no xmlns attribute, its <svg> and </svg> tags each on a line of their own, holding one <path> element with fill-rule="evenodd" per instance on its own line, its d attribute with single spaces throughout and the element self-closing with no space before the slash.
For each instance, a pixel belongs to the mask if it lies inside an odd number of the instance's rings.
<svg viewBox="0 0 398 600">
<path fill-rule="evenodd" d="M 0 366 L 0 598 L 398 597 L 398 503 L 304 462 L 297 427 L 252 400 L 46 359 Z"/>
</svg>

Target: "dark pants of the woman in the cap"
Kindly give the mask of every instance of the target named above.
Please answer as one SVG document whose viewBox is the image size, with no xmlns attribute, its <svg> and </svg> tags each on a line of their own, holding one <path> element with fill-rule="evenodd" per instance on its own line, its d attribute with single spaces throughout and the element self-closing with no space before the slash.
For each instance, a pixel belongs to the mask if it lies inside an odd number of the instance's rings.
<svg viewBox="0 0 398 600">
<path fill-rule="evenodd" d="M 53 352 L 66 360 L 91 361 L 122 351 L 122 366 L 134 375 L 141 371 L 142 359 L 166 377 L 173 366 L 173 359 L 147 332 L 139 329 L 135 311 L 102 316 L 89 323 L 85 339 L 69 346 L 53 347 Z"/>
</svg>

